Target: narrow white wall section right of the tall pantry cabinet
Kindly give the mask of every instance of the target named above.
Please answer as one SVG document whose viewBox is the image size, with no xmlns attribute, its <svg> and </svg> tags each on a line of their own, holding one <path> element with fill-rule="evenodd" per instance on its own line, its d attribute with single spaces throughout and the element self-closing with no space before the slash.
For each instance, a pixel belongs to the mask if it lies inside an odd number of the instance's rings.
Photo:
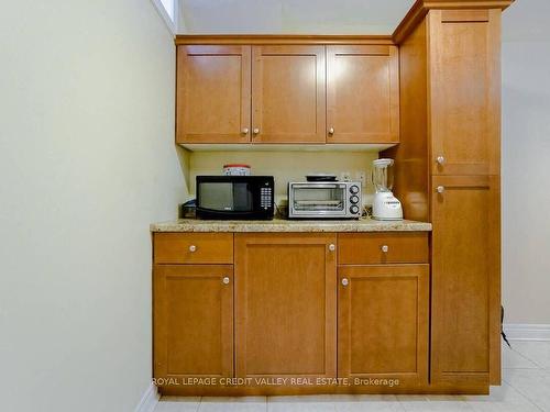
<svg viewBox="0 0 550 412">
<path fill-rule="evenodd" d="M 503 303 L 507 323 L 550 324 L 548 0 L 503 18 Z"/>
</svg>

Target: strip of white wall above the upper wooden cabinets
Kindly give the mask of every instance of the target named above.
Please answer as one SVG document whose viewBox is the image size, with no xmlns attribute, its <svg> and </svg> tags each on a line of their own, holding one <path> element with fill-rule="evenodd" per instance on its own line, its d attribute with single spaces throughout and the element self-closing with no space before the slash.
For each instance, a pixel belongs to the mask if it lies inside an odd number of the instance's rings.
<svg viewBox="0 0 550 412">
<path fill-rule="evenodd" d="M 388 34 L 414 0 L 178 0 L 190 33 Z M 180 30 L 184 32 L 184 30 Z"/>
</svg>

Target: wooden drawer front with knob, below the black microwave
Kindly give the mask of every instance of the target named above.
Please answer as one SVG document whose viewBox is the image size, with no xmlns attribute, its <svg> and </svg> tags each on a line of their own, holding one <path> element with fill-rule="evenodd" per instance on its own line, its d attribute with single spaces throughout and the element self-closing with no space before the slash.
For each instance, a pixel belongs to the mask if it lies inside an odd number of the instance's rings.
<svg viewBox="0 0 550 412">
<path fill-rule="evenodd" d="M 233 234 L 155 233 L 153 249 L 156 264 L 232 264 Z"/>
</svg>

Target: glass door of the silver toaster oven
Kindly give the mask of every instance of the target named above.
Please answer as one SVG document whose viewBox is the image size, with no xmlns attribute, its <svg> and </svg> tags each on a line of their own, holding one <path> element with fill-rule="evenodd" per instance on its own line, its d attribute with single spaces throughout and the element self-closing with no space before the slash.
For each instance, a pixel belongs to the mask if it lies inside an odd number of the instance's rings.
<svg viewBox="0 0 550 412">
<path fill-rule="evenodd" d="M 342 183 L 292 183 L 290 218 L 344 216 L 345 194 L 345 185 Z"/>
</svg>

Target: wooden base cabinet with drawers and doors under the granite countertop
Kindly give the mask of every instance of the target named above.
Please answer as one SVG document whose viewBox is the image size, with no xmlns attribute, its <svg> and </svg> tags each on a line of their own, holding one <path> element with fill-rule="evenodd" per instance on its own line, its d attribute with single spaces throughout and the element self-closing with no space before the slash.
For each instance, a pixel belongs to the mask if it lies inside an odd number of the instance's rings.
<svg viewBox="0 0 550 412">
<path fill-rule="evenodd" d="M 162 393 L 388 390 L 334 378 L 427 388 L 428 243 L 415 231 L 154 233 L 154 377 L 251 379 L 245 387 L 168 381 Z M 301 388 L 289 378 L 326 380 Z"/>
</svg>

